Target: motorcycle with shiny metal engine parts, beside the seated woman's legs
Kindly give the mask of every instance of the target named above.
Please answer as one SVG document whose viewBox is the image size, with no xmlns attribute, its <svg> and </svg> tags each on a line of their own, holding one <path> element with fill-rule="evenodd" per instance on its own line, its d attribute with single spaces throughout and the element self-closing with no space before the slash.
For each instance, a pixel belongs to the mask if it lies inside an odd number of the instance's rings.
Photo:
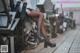
<svg viewBox="0 0 80 53">
<path fill-rule="evenodd" d="M 29 49 L 36 48 L 39 43 L 43 42 L 44 40 L 43 34 L 38 31 L 38 22 L 28 15 L 24 15 L 24 19 L 22 20 L 22 35 L 24 45 Z"/>
</svg>

